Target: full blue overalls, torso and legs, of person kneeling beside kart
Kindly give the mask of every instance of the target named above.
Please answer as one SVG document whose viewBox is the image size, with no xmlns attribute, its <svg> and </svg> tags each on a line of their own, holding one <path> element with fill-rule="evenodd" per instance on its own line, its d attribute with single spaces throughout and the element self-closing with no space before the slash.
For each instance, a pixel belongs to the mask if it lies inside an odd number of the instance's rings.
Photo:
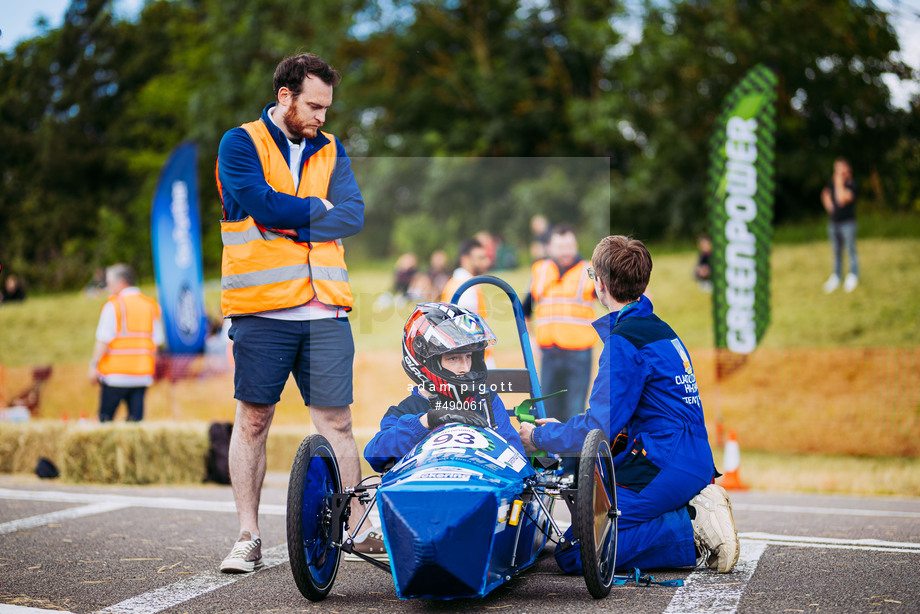
<svg viewBox="0 0 920 614">
<path fill-rule="evenodd" d="M 610 441 L 625 429 L 614 458 L 617 567 L 696 564 L 687 503 L 712 482 L 715 468 L 703 407 L 687 348 L 654 315 L 645 296 L 594 322 L 604 341 L 588 410 L 533 432 L 538 448 L 578 453 L 592 429 Z M 566 571 L 581 568 L 578 549 L 557 555 Z"/>
</svg>

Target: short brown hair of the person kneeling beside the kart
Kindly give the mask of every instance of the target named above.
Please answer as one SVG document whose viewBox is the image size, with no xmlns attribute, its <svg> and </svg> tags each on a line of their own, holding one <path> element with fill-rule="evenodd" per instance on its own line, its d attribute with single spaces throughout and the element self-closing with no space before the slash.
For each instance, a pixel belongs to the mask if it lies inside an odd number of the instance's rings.
<svg viewBox="0 0 920 614">
<path fill-rule="evenodd" d="M 594 274 L 618 303 L 631 303 L 648 287 L 652 256 L 638 239 L 613 235 L 601 239 L 591 256 Z"/>
</svg>

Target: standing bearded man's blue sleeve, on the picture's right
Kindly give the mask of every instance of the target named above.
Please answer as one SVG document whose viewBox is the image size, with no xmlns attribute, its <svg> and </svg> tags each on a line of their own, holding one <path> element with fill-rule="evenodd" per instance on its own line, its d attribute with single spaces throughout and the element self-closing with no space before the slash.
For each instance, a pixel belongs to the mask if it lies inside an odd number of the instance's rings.
<svg viewBox="0 0 920 614">
<path fill-rule="evenodd" d="M 298 241 L 335 241 L 356 235 L 364 227 L 364 199 L 351 170 L 351 159 L 338 138 L 335 139 L 335 146 L 338 155 L 326 195 L 333 207 L 325 216 L 310 220 L 303 228 L 298 228 Z"/>
</svg>

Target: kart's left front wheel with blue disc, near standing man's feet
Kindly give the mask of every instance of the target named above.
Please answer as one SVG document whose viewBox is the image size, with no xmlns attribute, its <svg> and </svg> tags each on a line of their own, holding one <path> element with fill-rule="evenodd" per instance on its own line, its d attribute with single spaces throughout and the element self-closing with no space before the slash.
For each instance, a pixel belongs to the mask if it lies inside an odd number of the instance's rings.
<svg viewBox="0 0 920 614">
<path fill-rule="evenodd" d="M 287 537 L 291 573 L 310 601 L 326 598 L 342 551 L 333 545 L 332 495 L 342 490 L 332 446 L 321 435 L 300 444 L 288 482 Z"/>
</svg>

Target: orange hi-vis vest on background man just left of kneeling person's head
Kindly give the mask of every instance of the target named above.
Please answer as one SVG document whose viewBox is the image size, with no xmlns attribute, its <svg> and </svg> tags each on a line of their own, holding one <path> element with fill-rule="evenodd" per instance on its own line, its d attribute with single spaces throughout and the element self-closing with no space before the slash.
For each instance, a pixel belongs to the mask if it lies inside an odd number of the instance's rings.
<svg viewBox="0 0 920 614">
<path fill-rule="evenodd" d="M 531 269 L 530 294 L 540 347 L 586 350 L 597 341 L 591 323 L 594 315 L 594 284 L 588 270 L 576 263 L 559 277 L 550 259 L 538 260 Z"/>
</svg>

